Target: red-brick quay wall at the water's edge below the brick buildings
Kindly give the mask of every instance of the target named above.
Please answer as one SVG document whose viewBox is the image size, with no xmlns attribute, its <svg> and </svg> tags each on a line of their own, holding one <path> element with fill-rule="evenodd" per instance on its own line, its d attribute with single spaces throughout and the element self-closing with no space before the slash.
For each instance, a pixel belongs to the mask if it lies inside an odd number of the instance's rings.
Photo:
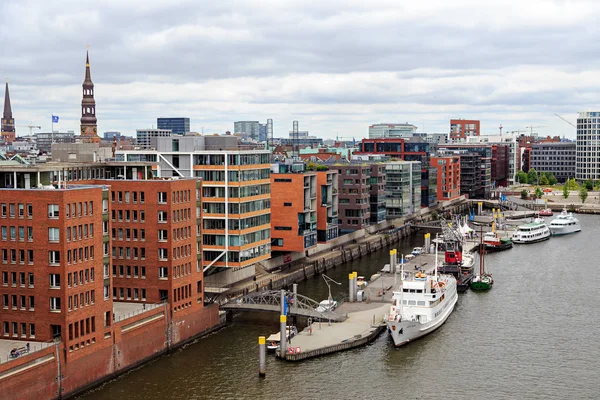
<svg viewBox="0 0 600 400">
<path fill-rule="evenodd" d="M 0 397 L 73 397 L 219 328 L 224 320 L 217 305 L 172 318 L 165 306 L 113 324 L 112 335 L 85 349 L 69 351 L 59 342 L 0 364 Z"/>
</svg>

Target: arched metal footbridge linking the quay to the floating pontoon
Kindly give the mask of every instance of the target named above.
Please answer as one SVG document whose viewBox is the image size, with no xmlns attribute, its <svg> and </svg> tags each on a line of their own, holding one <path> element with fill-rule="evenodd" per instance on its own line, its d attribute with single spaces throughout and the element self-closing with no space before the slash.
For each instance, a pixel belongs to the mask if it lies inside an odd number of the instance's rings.
<svg viewBox="0 0 600 400">
<path fill-rule="evenodd" d="M 290 298 L 287 296 L 286 298 Z M 347 316 L 335 311 L 318 312 L 315 309 L 319 306 L 319 302 L 302 296 L 296 295 L 296 300 L 288 302 L 288 314 L 301 317 L 313 318 L 314 320 L 331 320 L 344 321 Z M 281 291 L 268 290 L 264 292 L 249 293 L 245 296 L 231 299 L 228 303 L 221 305 L 222 310 L 239 310 L 239 311 L 267 311 L 281 312 Z"/>
</svg>

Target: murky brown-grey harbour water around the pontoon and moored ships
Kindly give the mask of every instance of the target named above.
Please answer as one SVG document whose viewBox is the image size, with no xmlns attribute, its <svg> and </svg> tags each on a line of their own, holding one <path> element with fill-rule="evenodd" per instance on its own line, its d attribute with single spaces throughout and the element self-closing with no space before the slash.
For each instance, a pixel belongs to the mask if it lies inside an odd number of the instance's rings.
<svg viewBox="0 0 600 400">
<path fill-rule="evenodd" d="M 460 295 L 444 326 L 408 346 L 394 348 L 385 333 L 301 363 L 269 356 L 259 379 L 257 337 L 278 329 L 276 315 L 260 314 L 81 399 L 596 399 L 600 219 L 578 218 L 582 233 L 487 255 L 494 288 Z M 421 236 L 407 239 L 399 253 L 420 244 Z M 385 249 L 328 271 L 343 282 L 334 298 L 345 296 L 350 271 L 368 278 L 388 259 Z M 321 300 L 327 286 L 309 278 L 299 293 Z"/>
</svg>

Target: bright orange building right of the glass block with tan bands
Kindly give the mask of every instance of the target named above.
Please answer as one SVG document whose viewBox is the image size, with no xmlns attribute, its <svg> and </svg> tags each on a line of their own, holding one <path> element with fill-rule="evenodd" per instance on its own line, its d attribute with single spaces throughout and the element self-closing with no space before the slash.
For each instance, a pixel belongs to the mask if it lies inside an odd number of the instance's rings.
<svg viewBox="0 0 600 400">
<path fill-rule="evenodd" d="M 271 166 L 271 249 L 304 252 L 317 245 L 317 173 L 304 163 Z"/>
</svg>

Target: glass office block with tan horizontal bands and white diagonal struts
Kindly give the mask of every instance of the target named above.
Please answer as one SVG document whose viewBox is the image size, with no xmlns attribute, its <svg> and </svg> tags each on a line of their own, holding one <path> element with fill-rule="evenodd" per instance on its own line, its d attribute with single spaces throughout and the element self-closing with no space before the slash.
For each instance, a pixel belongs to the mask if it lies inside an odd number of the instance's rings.
<svg viewBox="0 0 600 400">
<path fill-rule="evenodd" d="M 202 180 L 202 266 L 248 267 L 271 257 L 270 152 L 235 136 L 158 138 L 156 150 L 119 150 L 125 163 L 158 163 L 158 177 Z M 213 271 L 214 270 L 214 271 Z"/>
</svg>

